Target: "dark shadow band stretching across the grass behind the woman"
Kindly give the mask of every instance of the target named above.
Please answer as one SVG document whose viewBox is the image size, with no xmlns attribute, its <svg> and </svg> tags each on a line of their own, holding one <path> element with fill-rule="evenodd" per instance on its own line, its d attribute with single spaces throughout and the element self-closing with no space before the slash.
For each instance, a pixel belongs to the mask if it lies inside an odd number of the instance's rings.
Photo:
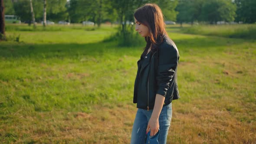
<svg viewBox="0 0 256 144">
<path fill-rule="evenodd" d="M 222 37 L 197 37 L 193 39 L 173 39 L 180 51 L 194 49 L 197 51 L 221 52 L 223 46 L 241 44 L 244 39 L 229 39 Z M 26 43 L 3 43 L 0 46 L 0 57 L 3 58 L 75 58 L 77 56 L 102 56 L 104 53 L 115 56 L 134 56 L 134 52 L 142 52 L 144 46 L 118 47 L 115 42 L 97 43 L 49 43 L 49 44 L 26 44 Z"/>
</svg>

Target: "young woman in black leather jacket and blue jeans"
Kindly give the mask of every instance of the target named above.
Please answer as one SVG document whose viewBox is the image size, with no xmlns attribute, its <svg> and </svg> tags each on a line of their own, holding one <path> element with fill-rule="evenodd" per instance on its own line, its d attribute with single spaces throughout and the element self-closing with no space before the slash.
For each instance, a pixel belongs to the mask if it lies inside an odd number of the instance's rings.
<svg viewBox="0 0 256 144">
<path fill-rule="evenodd" d="M 154 3 L 144 4 L 134 13 L 135 30 L 147 42 L 135 79 L 133 102 L 137 114 L 131 144 L 145 144 L 147 133 L 159 131 L 159 144 L 166 144 L 174 99 L 180 98 L 177 87 L 179 52 L 165 30 L 161 9 Z"/>
</svg>

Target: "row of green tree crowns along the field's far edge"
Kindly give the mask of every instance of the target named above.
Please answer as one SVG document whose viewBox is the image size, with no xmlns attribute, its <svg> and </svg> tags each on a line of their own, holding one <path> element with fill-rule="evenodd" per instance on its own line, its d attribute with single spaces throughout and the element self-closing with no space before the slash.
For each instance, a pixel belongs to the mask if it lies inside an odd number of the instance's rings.
<svg viewBox="0 0 256 144">
<path fill-rule="evenodd" d="M 29 0 L 4 0 L 5 14 L 22 22 L 31 20 Z M 134 11 L 144 3 L 157 3 L 165 20 L 180 23 L 217 21 L 256 22 L 256 0 L 47 0 L 47 20 L 124 23 L 133 21 Z M 36 21 L 43 20 L 43 0 L 33 0 Z"/>
</svg>

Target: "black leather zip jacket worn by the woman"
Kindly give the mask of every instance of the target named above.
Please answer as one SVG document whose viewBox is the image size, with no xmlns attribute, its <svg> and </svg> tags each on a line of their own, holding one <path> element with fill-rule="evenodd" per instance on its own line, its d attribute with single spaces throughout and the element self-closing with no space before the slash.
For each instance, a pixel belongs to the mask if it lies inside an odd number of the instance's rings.
<svg viewBox="0 0 256 144">
<path fill-rule="evenodd" d="M 164 105 L 180 98 L 177 86 L 179 58 L 176 45 L 165 36 L 158 52 L 153 52 L 150 58 L 144 59 L 140 72 L 137 71 L 134 85 L 133 103 L 137 103 L 137 108 L 153 109 L 156 94 L 165 97 Z M 138 60 L 138 65 L 140 61 L 141 59 Z"/>
</svg>

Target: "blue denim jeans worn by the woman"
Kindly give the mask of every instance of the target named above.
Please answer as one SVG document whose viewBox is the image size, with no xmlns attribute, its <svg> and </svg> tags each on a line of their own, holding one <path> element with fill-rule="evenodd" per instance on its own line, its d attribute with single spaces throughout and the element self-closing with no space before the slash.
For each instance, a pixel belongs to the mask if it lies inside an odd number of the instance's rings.
<svg viewBox="0 0 256 144">
<path fill-rule="evenodd" d="M 148 121 L 151 118 L 153 110 L 144 110 L 138 108 L 132 132 L 131 132 L 131 144 L 145 144 L 147 140 L 146 129 Z M 160 134 L 158 137 L 159 144 L 166 144 L 168 130 L 171 125 L 172 108 L 171 103 L 162 108 L 159 115 L 159 127 Z"/>
</svg>

